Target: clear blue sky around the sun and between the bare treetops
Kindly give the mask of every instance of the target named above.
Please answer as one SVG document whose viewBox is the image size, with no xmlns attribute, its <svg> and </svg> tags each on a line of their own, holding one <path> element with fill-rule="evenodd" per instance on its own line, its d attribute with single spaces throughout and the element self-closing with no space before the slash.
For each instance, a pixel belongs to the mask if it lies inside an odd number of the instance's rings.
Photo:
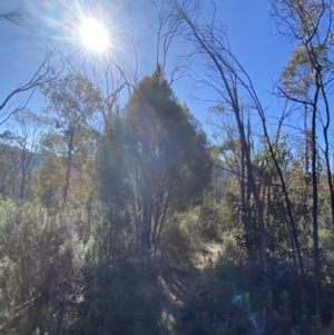
<svg viewBox="0 0 334 335">
<path fill-rule="evenodd" d="M 207 3 L 206 3 L 207 2 Z M 136 48 L 139 58 L 139 75 L 150 75 L 155 69 L 155 41 L 150 24 L 155 24 L 155 11 L 149 0 L 129 1 L 66 1 L 66 0 L 23 0 L 1 1 L 0 12 L 23 3 L 31 16 L 29 29 L 0 21 L 0 99 L 20 83 L 24 83 L 43 59 L 45 43 L 50 39 L 59 50 L 73 60 L 80 60 L 82 48 L 75 32 L 84 16 L 96 16 L 117 36 L 115 48 L 122 52 L 122 59 L 134 63 L 132 49 L 127 35 L 134 22 Z M 209 8 L 210 1 L 204 1 Z M 227 27 L 232 50 L 250 75 L 265 105 L 269 105 L 271 91 L 292 46 L 276 36 L 276 28 L 269 18 L 269 3 L 266 0 L 219 0 L 217 18 Z M 129 14 L 131 12 L 131 16 Z M 209 14 L 209 10 L 204 12 Z M 170 55 L 180 46 L 175 45 Z M 168 63 L 173 66 L 173 57 Z M 168 67 L 166 68 L 168 76 Z M 187 78 L 174 86 L 176 96 L 186 101 L 197 119 L 205 121 L 206 105 L 190 98 L 191 85 Z M 200 95 L 200 91 L 198 92 Z M 23 96 L 17 96 L 12 104 L 19 104 Z M 35 95 L 31 109 L 41 108 L 41 97 Z"/>
</svg>

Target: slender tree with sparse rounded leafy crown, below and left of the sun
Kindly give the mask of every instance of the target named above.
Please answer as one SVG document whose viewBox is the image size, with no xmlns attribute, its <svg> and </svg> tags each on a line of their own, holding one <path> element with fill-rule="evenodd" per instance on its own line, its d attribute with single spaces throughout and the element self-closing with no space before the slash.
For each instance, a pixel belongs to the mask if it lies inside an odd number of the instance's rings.
<svg viewBox="0 0 334 335">
<path fill-rule="evenodd" d="M 66 160 L 66 176 L 62 188 L 62 199 L 66 203 L 70 188 L 73 158 L 81 141 L 89 141 L 94 136 L 87 129 L 87 120 L 99 109 L 100 93 L 82 77 L 66 75 L 42 86 L 41 92 L 47 98 L 45 112 L 49 117 L 49 139 L 58 138 L 62 144 L 58 149 Z M 45 137 L 48 137 L 46 135 Z M 57 141 L 47 140 L 50 148 L 57 150 Z M 56 146 L 55 146 L 56 145 Z"/>
</svg>

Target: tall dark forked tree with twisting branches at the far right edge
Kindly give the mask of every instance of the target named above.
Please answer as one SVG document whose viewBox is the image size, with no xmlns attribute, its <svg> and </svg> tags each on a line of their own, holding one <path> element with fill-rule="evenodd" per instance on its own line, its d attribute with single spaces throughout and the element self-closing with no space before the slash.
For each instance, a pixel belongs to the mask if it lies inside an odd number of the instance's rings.
<svg viewBox="0 0 334 335">
<path fill-rule="evenodd" d="M 332 220 L 334 224 L 334 189 L 330 164 L 328 130 L 331 110 L 328 97 L 333 89 L 332 40 L 333 1 L 332 0 L 283 0 L 271 1 L 272 16 L 278 32 L 296 43 L 291 58 L 291 70 L 285 69 L 285 87 L 278 87 L 284 98 L 310 109 L 311 114 L 311 174 L 312 174 L 312 226 L 313 259 L 316 295 L 316 315 L 321 319 L 322 288 L 318 246 L 318 124 L 324 135 L 324 156 L 327 168 L 327 181 L 331 194 Z"/>
</svg>

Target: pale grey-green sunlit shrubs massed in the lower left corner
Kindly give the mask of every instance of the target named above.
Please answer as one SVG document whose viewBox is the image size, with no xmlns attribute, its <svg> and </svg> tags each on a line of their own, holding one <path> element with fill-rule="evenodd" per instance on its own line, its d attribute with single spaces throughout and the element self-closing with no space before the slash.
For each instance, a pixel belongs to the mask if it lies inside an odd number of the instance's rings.
<svg viewBox="0 0 334 335">
<path fill-rule="evenodd" d="M 77 217 L 51 216 L 30 203 L 0 203 L 0 324 L 7 334 L 37 327 L 67 334 L 65 312 L 72 313 L 73 279 L 90 245 L 82 243 Z"/>
</svg>

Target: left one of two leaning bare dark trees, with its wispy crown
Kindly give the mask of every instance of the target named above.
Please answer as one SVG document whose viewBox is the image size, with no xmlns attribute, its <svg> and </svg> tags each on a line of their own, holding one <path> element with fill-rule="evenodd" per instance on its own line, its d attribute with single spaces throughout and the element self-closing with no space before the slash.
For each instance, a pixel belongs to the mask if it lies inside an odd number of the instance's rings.
<svg viewBox="0 0 334 335">
<path fill-rule="evenodd" d="M 243 102 L 239 89 L 243 87 L 252 102 L 261 107 L 250 78 L 229 49 L 226 29 L 214 17 L 202 21 L 202 1 L 169 1 L 169 10 L 174 20 L 180 21 L 181 36 L 193 47 L 188 61 L 193 63 L 193 78 L 196 85 L 212 89 L 217 96 L 217 104 L 233 114 L 238 130 L 240 147 L 247 168 L 248 183 L 256 203 L 258 227 L 261 231 L 261 255 L 264 273 L 267 273 L 267 233 L 264 220 L 264 204 L 258 194 L 252 165 L 250 149 L 247 141 L 246 124 L 244 120 Z"/>
</svg>

